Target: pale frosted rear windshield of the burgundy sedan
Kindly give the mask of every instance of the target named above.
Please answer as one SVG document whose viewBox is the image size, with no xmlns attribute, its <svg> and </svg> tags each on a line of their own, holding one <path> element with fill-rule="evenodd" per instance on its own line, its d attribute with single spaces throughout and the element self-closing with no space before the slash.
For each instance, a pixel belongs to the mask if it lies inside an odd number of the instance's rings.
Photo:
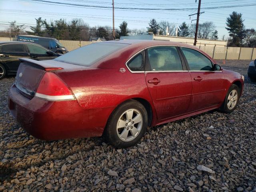
<svg viewBox="0 0 256 192">
<path fill-rule="evenodd" d="M 82 66 L 90 66 L 96 61 L 108 56 L 116 50 L 124 48 L 125 46 L 128 46 L 128 44 L 92 43 L 59 56 L 54 60 Z"/>
</svg>

